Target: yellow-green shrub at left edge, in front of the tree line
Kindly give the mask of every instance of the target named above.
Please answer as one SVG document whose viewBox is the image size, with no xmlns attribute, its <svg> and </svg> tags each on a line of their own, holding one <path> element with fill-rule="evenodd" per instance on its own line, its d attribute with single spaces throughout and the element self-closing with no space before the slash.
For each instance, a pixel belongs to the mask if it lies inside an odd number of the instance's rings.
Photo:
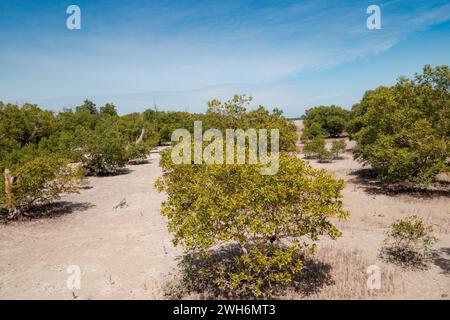
<svg viewBox="0 0 450 320">
<path fill-rule="evenodd" d="M 11 172 L 12 184 L 2 183 L 3 203 L 10 218 L 17 218 L 35 205 L 59 199 L 63 193 L 77 192 L 83 172 L 67 159 L 40 156 L 17 165 Z M 7 200 L 7 194 L 11 197 Z"/>
</svg>

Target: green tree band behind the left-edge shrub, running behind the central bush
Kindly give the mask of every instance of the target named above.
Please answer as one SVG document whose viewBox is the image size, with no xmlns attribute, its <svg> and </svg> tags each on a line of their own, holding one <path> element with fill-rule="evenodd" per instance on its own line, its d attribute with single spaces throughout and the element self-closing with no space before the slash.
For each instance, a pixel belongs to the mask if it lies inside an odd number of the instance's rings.
<svg viewBox="0 0 450 320">
<path fill-rule="evenodd" d="M 150 148 L 170 141 L 175 129 L 193 131 L 195 120 L 203 121 L 204 130 L 215 126 L 220 130 L 279 129 L 280 148 L 295 150 L 295 126 L 281 111 L 269 113 L 262 107 L 247 111 L 249 101 L 245 96 L 235 96 L 224 104 L 216 101 L 207 115 L 149 109 L 124 116 L 119 116 L 111 103 L 98 110 L 87 99 L 75 111 L 65 109 L 57 114 L 32 104 L 0 103 L 0 169 L 12 170 L 36 159 L 55 157 L 80 163 L 87 174 L 114 173 L 129 160 L 143 160 Z M 137 144 L 141 135 L 143 141 Z M 3 198 L 3 189 L 0 194 Z"/>
</svg>

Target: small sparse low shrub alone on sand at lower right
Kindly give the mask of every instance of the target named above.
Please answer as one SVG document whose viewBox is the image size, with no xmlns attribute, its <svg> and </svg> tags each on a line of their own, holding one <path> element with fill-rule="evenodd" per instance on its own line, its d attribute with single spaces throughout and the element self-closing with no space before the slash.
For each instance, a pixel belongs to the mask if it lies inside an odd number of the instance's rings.
<svg viewBox="0 0 450 320">
<path fill-rule="evenodd" d="M 381 256 L 403 266 L 426 266 L 436 242 L 432 231 L 432 227 L 417 216 L 399 219 L 386 232 Z"/>
</svg>

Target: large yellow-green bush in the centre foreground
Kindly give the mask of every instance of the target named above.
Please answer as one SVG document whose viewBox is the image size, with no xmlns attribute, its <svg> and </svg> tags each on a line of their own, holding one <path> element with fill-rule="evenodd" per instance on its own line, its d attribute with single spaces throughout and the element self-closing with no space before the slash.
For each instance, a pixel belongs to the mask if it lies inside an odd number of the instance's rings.
<svg viewBox="0 0 450 320">
<path fill-rule="evenodd" d="M 261 175 L 260 165 L 173 165 L 168 152 L 163 164 L 156 186 L 168 194 L 162 213 L 174 243 L 200 260 L 218 246 L 238 246 L 200 273 L 223 295 L 269 297 L 292 284 L 302 254 L 312 254 L 322 235 L 340 236 L 328 219 L 348 214 L 343 181 L 293 155 L 280 155 L 273 176 Z"/>
</svg>

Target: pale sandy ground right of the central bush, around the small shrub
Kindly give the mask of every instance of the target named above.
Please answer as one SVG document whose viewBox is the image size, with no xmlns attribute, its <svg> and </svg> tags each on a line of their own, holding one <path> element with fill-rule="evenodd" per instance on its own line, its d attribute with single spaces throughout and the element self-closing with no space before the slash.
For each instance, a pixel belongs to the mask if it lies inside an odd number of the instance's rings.
<svg viewBox="0 0 450 320">
<path fill-rule="evenodd" d="M 295 121 L 298 131 L 303 127 L 300 120 Z M 327 145 L 331 142 L 327 141 Z M 299 142 L 298 147 L 301 149 Z M 354 141 L 347 140 L 347 147 Z M 301 157 L 301 156 L 300 156 Z M 396 270 L 401 277 L 401 285 L 396 293 L 388 298 L 396 299 L 449 299 L 450 296 L 450 198 L 440 194 L 389 194 L 356 174 L 364 167 L 353 160 L 350 152 L 342 159 L 332 163 L 318 163 L 309 160 L 315 168 L 326 169 L 336 178 L 345 181 L 344 205 L 350 211 L 346 221 L 338 222 L 343 236 L 337 241 L 321 242 L 338 249 L 358 250 L 368 261 L 381 268 L 391 268 L 378 258 L 379 248 L 386 228 L 396 219 L 410 215 L 423 218 L 434 229 L 439 239 L 435 245 L 437 254 L 428 270 Z M 395 269 L 395 268 L 394 268 Z"/>
</svg>

